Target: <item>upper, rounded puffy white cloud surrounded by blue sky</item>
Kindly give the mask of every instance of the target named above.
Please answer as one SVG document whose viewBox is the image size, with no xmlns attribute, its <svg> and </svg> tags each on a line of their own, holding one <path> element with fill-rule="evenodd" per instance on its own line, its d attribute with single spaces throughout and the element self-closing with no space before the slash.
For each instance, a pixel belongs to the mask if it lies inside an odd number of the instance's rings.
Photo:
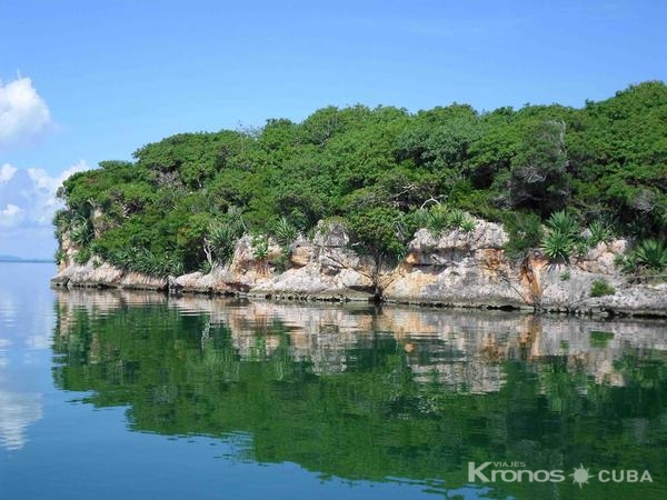
<svg viewBox="0 0 667 500">
<path fill-rule="evenodd" d="M 51 112 L 29 78 L 0 82 L 0 151 L 32 143 L 51 127 Z"/>
</svg>

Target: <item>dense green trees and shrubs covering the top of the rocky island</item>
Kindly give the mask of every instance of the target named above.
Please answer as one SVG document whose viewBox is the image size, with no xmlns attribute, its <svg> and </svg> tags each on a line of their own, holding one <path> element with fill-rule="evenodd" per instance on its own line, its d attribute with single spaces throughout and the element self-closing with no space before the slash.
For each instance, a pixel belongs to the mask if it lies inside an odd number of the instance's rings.
<svg viewBox="0 0 667 500">
<path fill-rule="evenodd" d="M 84 252 L 79 260 L 98 256 L 162 274 L 210 268 L 230 258 L 246 230 L 288 248 L 297 232 L 329 218 L 347 223 L 356 248 L 391 257 L 418 226 L 472 230 L 466 212 L 505 222 L 514 254 L 542 247 L 563 260 L 613 233 L 651 238 L 665 250 L 663 82 L 581 109 L 329 107 L 301 123 L 173 136 L 135 159 L 66 181 L 57 232 L 69 232 Z M 554 217 L 574 226 L 555 229 Z M 663 269 L 667 252 L 647 257 L 626 268 Z"/>
</svg>

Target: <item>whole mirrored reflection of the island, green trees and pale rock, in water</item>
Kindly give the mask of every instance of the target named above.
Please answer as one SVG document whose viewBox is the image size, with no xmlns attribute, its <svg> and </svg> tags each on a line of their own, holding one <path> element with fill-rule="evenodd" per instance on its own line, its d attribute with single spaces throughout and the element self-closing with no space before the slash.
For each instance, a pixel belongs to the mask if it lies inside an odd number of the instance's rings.
<svg viewBox="0 0 667 500">
<path fill-rule="evenodd" d="M 249 460 L 441 493 L 470 460 L 649 469 L 664 484 L 664 323 L 87 291 L 57 310 L 56 384 L 128 406 L 137 431 L 247 436 Z M 506 487 L 489 494 L 573 488 Z"/>
</svg>

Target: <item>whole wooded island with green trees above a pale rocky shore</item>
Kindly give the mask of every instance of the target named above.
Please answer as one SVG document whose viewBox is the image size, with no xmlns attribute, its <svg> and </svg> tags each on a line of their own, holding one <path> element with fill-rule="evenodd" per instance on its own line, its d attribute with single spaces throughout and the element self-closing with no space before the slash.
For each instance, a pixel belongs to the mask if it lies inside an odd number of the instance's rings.
<svg viewBox="0 0 667 500">
<path fill-rule="evenodd" d="M 69 178 L 58 287 L 667 316 L 667 87 L 181 133 Z"/>
</svg>

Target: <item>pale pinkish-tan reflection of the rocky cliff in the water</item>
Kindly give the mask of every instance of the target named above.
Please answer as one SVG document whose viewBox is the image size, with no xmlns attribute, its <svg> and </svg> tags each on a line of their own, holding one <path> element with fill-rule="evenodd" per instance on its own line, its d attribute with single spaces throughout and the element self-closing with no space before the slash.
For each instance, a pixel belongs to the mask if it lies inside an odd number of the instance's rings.
<svg viewBox="0 0 667 500">
<path fill-rule="evenodd" d="M 395 339 L 417 381 L 437 381 L 450 390 L 470 393 L 500 390 L 504 362 L 528 361 L 539 371 L 540 360 L 555 357 L 568 371 L 584 373 L 595 383 L 623 387 L 628 380 L 616 367 L 624 356 L 650 357 L 667 351 L 667 327 L 637 320 L 609 322 L 360 304 L 313 307 L 129 291 L 60 291 L 58 302 L 60 336 L 72 328 L 76 311 L 96 318 L 128 307 L 162 306 L 186 316 L 205 314 L 207 324 L 229 328 L 241 360 L 270 358 L 287 336 L 289 357 L 312 362 L 316 373 L 344 372 L 355 362 L 356 348 L 370 347 L 377 336 L 388 336 Z M 91 354 L 94 358 L 94 352 Z M 586 384 L 580 390 L 586 392 Z"/>
</svg>

